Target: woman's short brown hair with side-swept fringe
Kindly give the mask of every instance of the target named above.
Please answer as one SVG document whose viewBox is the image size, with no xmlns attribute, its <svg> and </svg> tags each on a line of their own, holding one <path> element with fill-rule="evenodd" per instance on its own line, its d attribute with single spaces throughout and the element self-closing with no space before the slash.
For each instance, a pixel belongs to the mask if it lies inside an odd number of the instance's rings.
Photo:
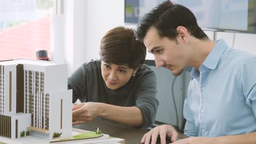
<svg viewBox="0 0 256 144">
<path fill-rule="evenodd" d="M 101 39 L 100 56 L 103 62 L 117 65 L 127 64 L 138 68 L 146 58 L 146 46 L 136 40 L 133 29 L 116 27 Z"/>
</svg>

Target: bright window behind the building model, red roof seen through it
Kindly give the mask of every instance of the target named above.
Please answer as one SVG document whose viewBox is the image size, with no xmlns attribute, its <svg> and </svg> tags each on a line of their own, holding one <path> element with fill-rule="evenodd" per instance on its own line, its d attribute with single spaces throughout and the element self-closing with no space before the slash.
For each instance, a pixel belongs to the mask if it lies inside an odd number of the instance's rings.
<svg viewBox="0 0 256 144">
<path fill-rule="evenodd" d="M 54 0 L 0 0 L 0 61 L 36 59 L 36 51 L 50 57 L 50 29 Z"/>
</svg>

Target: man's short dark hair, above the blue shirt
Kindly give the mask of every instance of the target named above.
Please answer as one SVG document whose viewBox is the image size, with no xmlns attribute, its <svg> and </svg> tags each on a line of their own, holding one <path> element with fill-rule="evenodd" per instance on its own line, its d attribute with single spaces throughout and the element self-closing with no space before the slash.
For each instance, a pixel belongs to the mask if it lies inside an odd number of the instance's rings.
<svg viewBox="0 0 256 144">
<path fill-rule="evenodd" d="M 197 25 L 194 14 L 183 5 L 173 4 L 171 1 L 156 5 L 140 19 L 135 29 L 137 40 L 143 41 L 152 26 L 158 30 L 160 37 L 175 39 L 178 34 L 177 27 L 183 26 L 195 38 L 208 39 L 205 32 Z"/>
</svg>

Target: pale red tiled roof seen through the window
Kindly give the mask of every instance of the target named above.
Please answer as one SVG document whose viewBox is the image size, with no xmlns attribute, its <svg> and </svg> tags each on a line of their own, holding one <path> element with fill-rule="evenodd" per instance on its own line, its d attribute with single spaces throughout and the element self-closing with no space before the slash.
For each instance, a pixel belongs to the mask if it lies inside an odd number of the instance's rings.
<svg viewBox="0 0 256 144">
<path fill-rule="evenodd" d="M 0 61 L 36 59 L 38 50 L 46 50 L 50 58 L 50 23 L 50 17 L 43 17 L 0 31 Z"/>
</svg>

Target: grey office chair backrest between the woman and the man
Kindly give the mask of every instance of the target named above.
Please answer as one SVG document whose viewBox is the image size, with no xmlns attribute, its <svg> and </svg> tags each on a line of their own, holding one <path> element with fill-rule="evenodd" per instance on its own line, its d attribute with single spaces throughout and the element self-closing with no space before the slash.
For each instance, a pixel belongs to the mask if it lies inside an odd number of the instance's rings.
<svg viewBox="0 0 256 144">
<path fill-rule="evenodd" d="M 168 69 L 156 68 L 153 60 L 146 60 L 144 63 L 154 70 L 157 82 L 156 98 L 159 100 L 159 107 L 153 127 L 171 124 L 183 133 L 183 105 L 187 98 L 191 68 L 187 68 L 179 76 L 174 76 Z"/>
</svg>

